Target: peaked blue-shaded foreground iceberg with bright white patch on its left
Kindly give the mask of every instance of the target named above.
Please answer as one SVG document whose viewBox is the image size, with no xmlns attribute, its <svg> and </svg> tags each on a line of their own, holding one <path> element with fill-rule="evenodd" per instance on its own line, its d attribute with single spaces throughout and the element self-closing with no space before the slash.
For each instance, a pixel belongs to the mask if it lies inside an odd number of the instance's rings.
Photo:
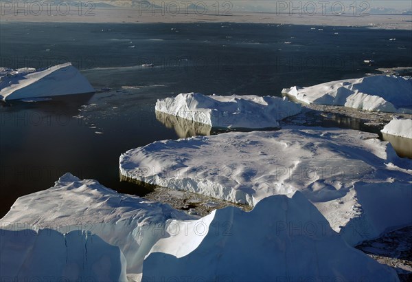
<svg viewBox="0 0 412 282">
<path fill-rule="evenodd" d="M 299 192 L 262 199 L 249 213 L 229 207 L 170 221 L 167 230 L 144 260 L 142 281 L 398 281 L 348 246 Z"/>
</svg>

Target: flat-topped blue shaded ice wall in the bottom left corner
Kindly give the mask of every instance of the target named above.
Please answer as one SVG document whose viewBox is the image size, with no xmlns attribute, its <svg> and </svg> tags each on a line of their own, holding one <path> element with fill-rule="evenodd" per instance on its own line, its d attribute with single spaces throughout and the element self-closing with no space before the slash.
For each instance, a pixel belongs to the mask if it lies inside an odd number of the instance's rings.
<svg viewBox="0 0 412 282">
<path fill-rule="evenodd" d="M 1 281 L 127 281 L 119 248 L 90 232 L 0 229 L 0 253 Z"/>
</svg>

